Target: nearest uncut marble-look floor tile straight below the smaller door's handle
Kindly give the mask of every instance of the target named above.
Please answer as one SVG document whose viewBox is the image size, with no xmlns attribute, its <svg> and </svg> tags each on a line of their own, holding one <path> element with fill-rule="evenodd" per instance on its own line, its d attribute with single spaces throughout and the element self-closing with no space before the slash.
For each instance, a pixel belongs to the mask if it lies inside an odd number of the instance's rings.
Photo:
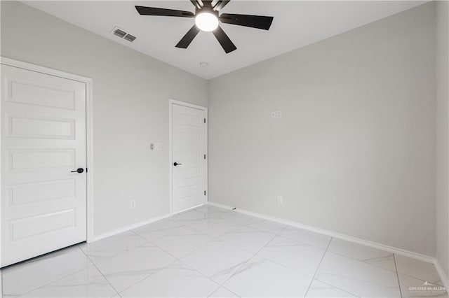
<svg viewBox="0 0 449 298">
<path fill-rule="evenodd" d="M 192 253 L 196 248 L 203 246 L 212 239 L 211 236 L 196 231 L 195 229 L 179 227 L 173 229 L 170 234 L 155 239 L 152 243 L 166 250 L 171 255 L 181 258 Z"/>
</svg>

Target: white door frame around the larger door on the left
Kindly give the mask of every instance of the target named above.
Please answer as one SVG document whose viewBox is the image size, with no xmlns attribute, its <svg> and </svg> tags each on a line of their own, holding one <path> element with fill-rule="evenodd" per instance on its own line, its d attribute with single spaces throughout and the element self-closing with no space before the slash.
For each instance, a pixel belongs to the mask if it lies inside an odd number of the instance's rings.
<svg viewBox="0 0 449 298">
<path fill-rule="evenodd" d="M 26 69 L 29 71 L 36 71 L 38 73 L 44 73 L 50 76 L 57 76 L 59 78 L 66 78 L 69 80 L 76 80 L 86 84 L 86 168 L 88 173 L 86 174 L 86 199 L 87 199 L 87 242 L 93 241 L 93 80 L 83 76 L 77 76 L 72 73 L 66 73 L 64 71 L 58 71 L 55 69 L 48 69 L 47 67 L 30 64 L 27 62 L 18 61 L 8 57 L 0 56 L 0 64 L 17 67 L 19 69 Z M 1 108 L 1 105 L 0 105 Z M 1 122 L 0 122 L 1 132 Z M 1 142 L 1 139 L 0 139 Z M 1 145 L 1 144 L 0 144 Z M 0 159 L 1 166 L 1 159 Z M 1 173 L 0 173 L 1 175 Z M 1 177 L 0 177 L 1 178 Z M 1 216 L 1 206 L 0 206 Z M 0 218 L 1 222 L 1 218 Z M 1 232 L 1 231 L 0 231 Z M 1 235 L 0 235 L 1 236 Z M 0 237 L 1 241 L 1 237 Z M 1 247 L 1 243 L 0 243 Z M 1 257 L 1 254 L 0 254 Z M 0 260 L 1 261 L 1 260 Z"/>
</svg>

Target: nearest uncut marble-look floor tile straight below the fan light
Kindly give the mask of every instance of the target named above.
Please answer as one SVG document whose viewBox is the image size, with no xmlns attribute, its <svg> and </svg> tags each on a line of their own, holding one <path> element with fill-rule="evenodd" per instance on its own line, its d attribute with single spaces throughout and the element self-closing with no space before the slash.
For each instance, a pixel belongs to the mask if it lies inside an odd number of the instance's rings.
<svg viewBox="0 0 449 298">
<path fill-rule="evenodd" d="M 221 284 L 251 257 L 253 254 L 245 250 L 215 240 L 187 255 L 182 261 Z"/>
</svg>

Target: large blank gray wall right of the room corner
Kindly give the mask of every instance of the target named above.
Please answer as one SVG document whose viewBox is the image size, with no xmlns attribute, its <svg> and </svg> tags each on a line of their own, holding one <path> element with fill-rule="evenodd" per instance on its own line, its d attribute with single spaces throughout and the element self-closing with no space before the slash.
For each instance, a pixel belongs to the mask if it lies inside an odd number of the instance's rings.
<svg viewBox="0 0 449 298">
<path fill-rule="evenodd" d="M 435 255 L 434 18 L 427 3 L 210 80 L 209 200 Z"/>
</svg>

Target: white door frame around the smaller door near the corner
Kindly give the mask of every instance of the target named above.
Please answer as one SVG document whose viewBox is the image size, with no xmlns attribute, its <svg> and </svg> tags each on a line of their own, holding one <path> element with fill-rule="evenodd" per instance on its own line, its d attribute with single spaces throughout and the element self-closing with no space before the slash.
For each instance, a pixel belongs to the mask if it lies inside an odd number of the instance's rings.
<svg viewBox="0 0 449 298">
<path fill-rule="evenodd" d="M 204 125 L 205 129 L 205 140 L 204 140 L 204 152 L 206 152 L 206 196 L 204 199 L 204 204 L 208 202 L 209 190 L 208 190 L 208 108 L 205 106 L 197 106 L 196 104 L 189 104 L 184 101 L 178 101 L 175 99 L 168 99 L 168 173 L 169 173 L 169 198 L 170 198 L 170 214 L 173 215 L 173 104 L 177 104 L 178 106 L 187 106 L 188 108 L 197 108 L 201 111 L 205 112 L 204 117 L 206 118 L 206 125 Z"/>
</svg>

